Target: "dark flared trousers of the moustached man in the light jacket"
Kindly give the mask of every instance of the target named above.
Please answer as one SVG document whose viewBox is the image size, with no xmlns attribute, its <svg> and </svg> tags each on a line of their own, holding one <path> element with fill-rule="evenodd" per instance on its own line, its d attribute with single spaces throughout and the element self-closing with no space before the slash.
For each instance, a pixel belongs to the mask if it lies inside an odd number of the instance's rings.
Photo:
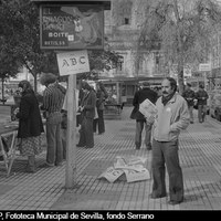
<svg viewBox="0 0 221 221">
<path fill-rule="evenodd" d="M 171 201 L 183 201 L 183 179 L 179 165 L 178 140 L 157 141 L 152 140 L 152 198 L 167 196 L 166 167 L 169 175 L 169 197 Z"/>
</svg>

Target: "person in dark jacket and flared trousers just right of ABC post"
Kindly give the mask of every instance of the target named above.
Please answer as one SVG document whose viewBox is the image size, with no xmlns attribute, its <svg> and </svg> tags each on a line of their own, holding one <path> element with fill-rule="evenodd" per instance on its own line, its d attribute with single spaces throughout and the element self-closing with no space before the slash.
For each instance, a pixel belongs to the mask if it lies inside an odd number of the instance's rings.
<svg viewBox="0 0 221 221">
<path fill-rule="evenodd" d="M 82 125 L 80 129 L 80 141 L 76 146 L 93 148 L 93 120 L 95 117 L 96 94 L 87 82 L 83 83 L 82 88 L 84 90 L 84 97 L 80 106 L 80 110 L 82 112 Z"/>
</svg>

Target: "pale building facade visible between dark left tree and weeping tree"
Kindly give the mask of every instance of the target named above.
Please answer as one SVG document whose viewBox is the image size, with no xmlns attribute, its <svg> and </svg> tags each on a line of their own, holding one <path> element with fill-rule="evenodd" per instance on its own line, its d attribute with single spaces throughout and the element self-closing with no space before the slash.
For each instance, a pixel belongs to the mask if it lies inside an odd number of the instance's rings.
<svg viewBox="0 0 221 221">
<path fill-rule="evenodd" d="M 112 0 L 112 8 L 105 11 L 105 48 L 122 55 L 117 69 L 105 71 L 99 77 L 106 86 L 117 93 L 117 102 L 131 103 L 139 81 L 148 80 L 150 84 L 160 84 L 165 73 L 158 51 L 145 53 L 137 60 L 137 42 L 145 13 L 147 0 Z"/>
</svg>

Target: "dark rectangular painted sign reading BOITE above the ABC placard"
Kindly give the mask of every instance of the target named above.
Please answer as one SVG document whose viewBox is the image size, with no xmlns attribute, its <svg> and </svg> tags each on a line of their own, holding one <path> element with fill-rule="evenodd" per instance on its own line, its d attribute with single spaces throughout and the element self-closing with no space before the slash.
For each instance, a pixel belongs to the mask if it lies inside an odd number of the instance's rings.
<svg viewBox="0 0 221 221">
<path fill-rule="evenodd" d="M 92 4 L 42 4 L 41 49 L 104 48 L 104 8 Z"/>
</svg>

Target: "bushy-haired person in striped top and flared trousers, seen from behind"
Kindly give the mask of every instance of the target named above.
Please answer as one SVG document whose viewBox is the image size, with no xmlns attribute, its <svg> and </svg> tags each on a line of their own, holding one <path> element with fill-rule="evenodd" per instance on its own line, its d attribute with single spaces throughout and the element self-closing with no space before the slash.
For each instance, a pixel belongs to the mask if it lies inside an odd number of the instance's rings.
<svg viewBox="0 0 221 221">
<path fill-rule="evenodd" d="M 61 166 L 63 161 L 62 147 L 62 107 L 66 90 L 59 84 L 56 76 L 52 73 L 43 73 L 40 77 L 42 85 L 46 88 L 43 92 L 44 117 L 46 118 L 46 164 L 45 167 Z"/>
</svg>

